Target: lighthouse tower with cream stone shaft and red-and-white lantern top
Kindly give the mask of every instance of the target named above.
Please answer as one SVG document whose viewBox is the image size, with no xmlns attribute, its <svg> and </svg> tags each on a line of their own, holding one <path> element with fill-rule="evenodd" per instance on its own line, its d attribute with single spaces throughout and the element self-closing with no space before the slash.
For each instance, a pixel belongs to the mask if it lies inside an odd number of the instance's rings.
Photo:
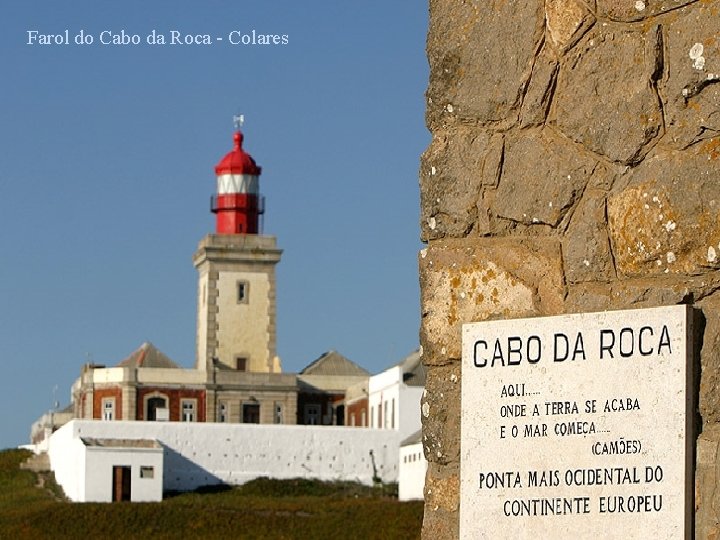
<svg viewBox="0 0 720 540">
<path fill-rule="evenodd" d="M 215 167 L 215 233 L 193 256 L 198 270 L 196 368 L 279 373 L 275 345 L 275 265 L 282 250 L 260 230 L 264 199 L 261 168 L 243 149 L 240 125 L 234 148 Z"/>
</svg>

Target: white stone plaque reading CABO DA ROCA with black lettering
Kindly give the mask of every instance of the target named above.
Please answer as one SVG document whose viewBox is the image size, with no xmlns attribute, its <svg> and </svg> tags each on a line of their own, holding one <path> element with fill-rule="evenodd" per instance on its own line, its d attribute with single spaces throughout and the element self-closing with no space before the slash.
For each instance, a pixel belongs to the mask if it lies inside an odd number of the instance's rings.
<svg viewBox="0 0 720 540">
<path fill-rule="evenodd" d="M 690 316 L 463 325 L 460 537 L 691 538 Z"/>
</svg>

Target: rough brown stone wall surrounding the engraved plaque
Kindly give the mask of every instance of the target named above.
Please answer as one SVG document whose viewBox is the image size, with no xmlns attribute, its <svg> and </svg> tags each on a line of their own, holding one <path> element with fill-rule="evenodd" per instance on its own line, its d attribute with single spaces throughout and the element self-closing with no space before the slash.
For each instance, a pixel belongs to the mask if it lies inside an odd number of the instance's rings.
<svg viewBox="0 0 720 540">
<path fill-rule="evenodd" d="M 720 0 L 430 0 L 425 538 L 458 523 L 460 327 L 702 314 L 696 536 L 720 535 Z"/>
</svg>

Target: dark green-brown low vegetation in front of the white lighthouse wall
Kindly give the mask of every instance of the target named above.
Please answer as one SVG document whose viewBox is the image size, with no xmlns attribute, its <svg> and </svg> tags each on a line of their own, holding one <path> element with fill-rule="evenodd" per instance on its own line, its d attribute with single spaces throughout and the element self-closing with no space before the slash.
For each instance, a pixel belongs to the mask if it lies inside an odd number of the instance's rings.
<svg viewBox="0 0 720 540">
<path fill-rule="evenodd" d="M 162 503 L 73 504 L 0 452 L 0 538 L 419 538 L 422 503 L 349 482 L 259 479 Z M 50 486 L 48 486 L 50 487 Z"/>
</svg>

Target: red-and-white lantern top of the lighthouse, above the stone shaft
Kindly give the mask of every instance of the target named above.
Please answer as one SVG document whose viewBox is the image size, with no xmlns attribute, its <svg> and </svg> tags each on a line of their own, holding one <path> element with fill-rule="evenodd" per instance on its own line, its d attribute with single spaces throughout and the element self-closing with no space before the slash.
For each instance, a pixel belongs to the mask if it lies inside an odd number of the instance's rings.
<svg viewBox="0 0 720 540">
<path fill-rule="evenodd" d="M 212 199 L 217 234 L 258 234 L 264 212 L 260 195 L 261 168 L 242 148 L 243 134 L 233 137 L 235 147 L 215 166 L 217 195 Z"/>
</svg>

